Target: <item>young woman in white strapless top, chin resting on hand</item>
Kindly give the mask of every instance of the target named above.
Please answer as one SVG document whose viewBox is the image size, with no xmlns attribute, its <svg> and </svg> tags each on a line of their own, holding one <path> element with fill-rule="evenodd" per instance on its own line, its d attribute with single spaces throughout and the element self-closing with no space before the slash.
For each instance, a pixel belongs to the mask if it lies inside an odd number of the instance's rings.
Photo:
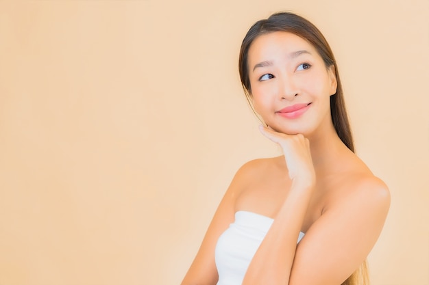
<svg viewBox="0 0 429 285">
<path fill-rule="evenodd" d="M 239 70 L 284 155 L 238 170 L 182 285 L 364 284 L 390 195 L 354 154 L 328 42 L 301 16 L 273 14 L 247 32 Z"/>
</svg>

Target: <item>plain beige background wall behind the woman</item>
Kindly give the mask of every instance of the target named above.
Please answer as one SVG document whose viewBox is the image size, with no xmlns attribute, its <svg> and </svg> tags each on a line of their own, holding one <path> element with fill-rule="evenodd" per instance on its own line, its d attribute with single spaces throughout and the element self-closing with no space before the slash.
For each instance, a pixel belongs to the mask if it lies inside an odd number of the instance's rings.
<svg viewBox="0 0 429 285">
<path fill-rule="evenodd" d="M 238 81 L 292 10 L 391 189 L 373 285 L 429 284 L 429 1 L 0 0 L 0 284 L 179 284 L 240 165 L 279 153 Z"/>
</svg>

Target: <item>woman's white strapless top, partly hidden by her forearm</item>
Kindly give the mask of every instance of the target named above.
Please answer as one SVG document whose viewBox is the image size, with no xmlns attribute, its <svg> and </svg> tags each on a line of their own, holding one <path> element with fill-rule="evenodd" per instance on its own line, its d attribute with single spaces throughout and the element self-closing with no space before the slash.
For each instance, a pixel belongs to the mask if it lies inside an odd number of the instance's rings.
<svg viewBox="0 0 429 285">
<path fill-rule="evenodd" d="M 217 285 L 241 285 L 250 261 L 265 238 L 273 219 L 247 211 L 235 213 L 235 221 L 221 234 L 215 249 Z M 298 243 L 304 236 L 299 232 Z"/>
</svg>

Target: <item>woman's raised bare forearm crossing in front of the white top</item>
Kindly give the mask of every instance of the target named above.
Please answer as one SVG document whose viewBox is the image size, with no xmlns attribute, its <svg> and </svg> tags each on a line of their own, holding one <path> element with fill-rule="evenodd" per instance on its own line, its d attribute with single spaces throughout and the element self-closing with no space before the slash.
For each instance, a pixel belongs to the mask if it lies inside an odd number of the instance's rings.
<svg viewBox="0 0 429 285">
<path fill-rule="evenodd" d="M 243 285 L 285 285 L 297 239 L 312 193 L 312 185 L 292 185 L 265 239 L 249 264 Z"/>
</svg>

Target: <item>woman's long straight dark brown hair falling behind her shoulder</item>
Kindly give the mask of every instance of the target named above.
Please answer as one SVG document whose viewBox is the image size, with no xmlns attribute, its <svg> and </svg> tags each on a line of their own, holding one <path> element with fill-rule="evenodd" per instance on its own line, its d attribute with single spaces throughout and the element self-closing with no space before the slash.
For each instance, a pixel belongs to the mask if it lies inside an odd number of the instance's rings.
<svg viewBox="0 0 429 285">
<path fill-rule="evenodd" d="M 336 77 L 336 93 L 330 96 L 331 118 L 334 128 L 341 141 L 354 152 L 354 144 L 350 123 L 345 109 L 345 101 L 343 96 L 343 87 L 339 76 L 338 66 L 334 54 L 323 36 L 321 31 L 302 16 L 290 12 L 280 12 L 271 15 L 269 18 L 256 22 L 247 32 L 241 44 L 240 55 L 238 59 L 238 70 L 240 72 L 241 84 L 246 94 L 246 98 L 252 105 L 252 87 L 249 80 L 249 68 L 247 56 L 252 42 L 258 36 L 274 31 L 286 31 L 307 40 L 315 47 L 319 55 L 322 57 L 326 68 L 334 66 Z M 369 284 L 367 260 L 349 277 L 342 285 L 365 285 Z"/>
</svg>

